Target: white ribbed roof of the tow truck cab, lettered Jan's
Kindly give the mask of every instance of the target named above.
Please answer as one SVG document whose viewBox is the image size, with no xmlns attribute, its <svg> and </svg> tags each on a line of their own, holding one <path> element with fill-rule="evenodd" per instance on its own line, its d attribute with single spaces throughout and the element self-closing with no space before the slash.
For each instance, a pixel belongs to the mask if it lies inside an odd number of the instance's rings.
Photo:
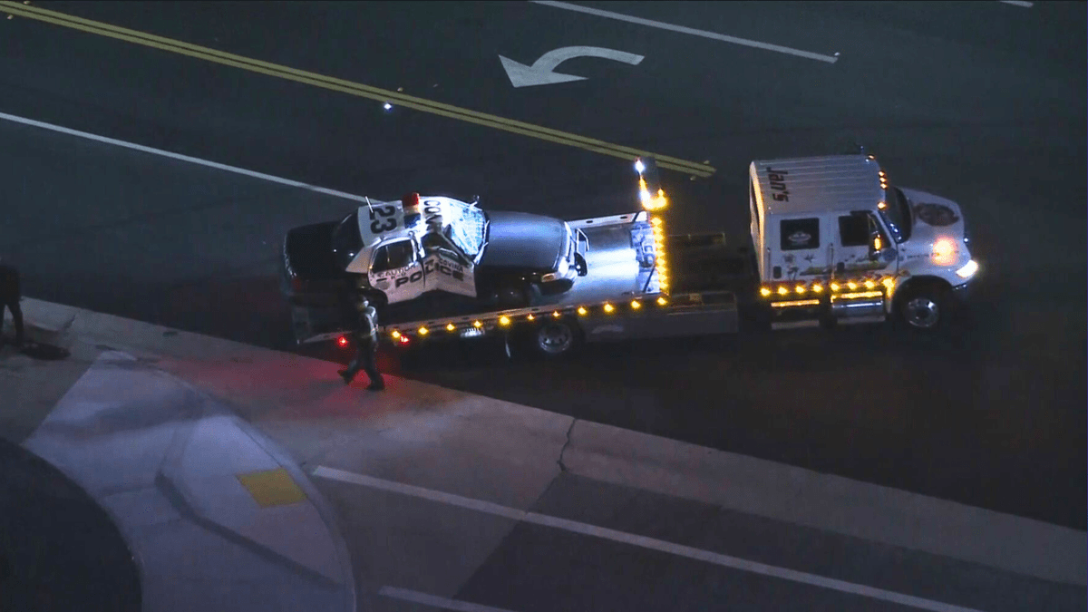
<svg viewBox="0 0 1088 612">
<path fill-rule="evenodd" d="M 750 171 L 768 216 L 871 210 L 885 197 L 880 164 L 870 156 L 753 161 Z M 772 173 L 779 175 L 776 181 L 770 179 Z M 779 193 L 788 199 L 776 200 L 772 195 Z"/>
</svg>

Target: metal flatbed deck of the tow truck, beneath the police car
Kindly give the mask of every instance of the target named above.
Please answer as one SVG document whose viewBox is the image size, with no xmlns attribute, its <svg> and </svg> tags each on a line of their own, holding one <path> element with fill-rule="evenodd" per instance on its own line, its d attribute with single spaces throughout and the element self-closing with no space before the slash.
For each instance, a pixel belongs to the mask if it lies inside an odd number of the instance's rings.
<svg viewBox="0 0 1088 612">
<path fill-rule="evenodd" d="M 720 235 L 666 240 L 667 247 L 672 249 L 670 258 L 680 265 L 682 272 L 675 274 L 670 295 L 663 296 L 653 267 L 653 237 L 645 212 L 584 219 L 570 224 L 584 232 L 590 246 L 585 256 L 588 274 L 578 278 L 569 291 L 537 295 L 529 307 L 517 309 L 498 309 L 474 298 L 432 293 L 407 304 L 390 306 L 381 321 L 382 331 L 406 330 L 409 333 L 407 330 L 450 329 L 453 326 L 461 331 L 459 335 L 469 336 L 484 333 L 489 326 L 494 327 L 499 316 L 517 318 L 556 313 L 581 315 L 579 325 L 586 340 L 683 334 L 689 327 L 691 333 L 707 328 L 735 331 L 734 286 L 745 283 L 749 274 L 746 261 L 728 255 Z M 727 282 L 729 279 L 733 282 Z M 657 307 L 658 297 L 663 297 L 668 308 Z M 650 307 L 636 313 L 638 317 L 623 316 L 633 314 L 627 311 L 631 302 Z M 615 313 L 615 316 L 585 316 L 591 314 L 589 309 L 603 304 L 615 304 L 616 309 L 593 314 Z M 732 313 L 728 320 L 720 319 L 722 309 Z M 337 308 L 295 306 L 292 315 L 299 343 L 333 340 L 349 327 L 344 313 Z M 714 320 L 705 320 L 707 317 Z M 477 321 L 480 325 L 474 327 Z M 670 331 L 677 327 L 679 331 Z"/>
</svg>

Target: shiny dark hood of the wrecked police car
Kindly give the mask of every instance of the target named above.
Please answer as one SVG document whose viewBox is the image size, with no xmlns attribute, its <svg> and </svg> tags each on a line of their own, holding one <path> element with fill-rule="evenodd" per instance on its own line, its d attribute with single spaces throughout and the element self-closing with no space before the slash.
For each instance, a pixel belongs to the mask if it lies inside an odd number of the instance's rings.
<svg viewBox="0 0 1088 612">
<path fill-rule="evenodd" d="M 487 246 L 480 266 L 553 271 L 567 247 L 567 225 L 528 212 L 487 212 Z"/>
</svg>

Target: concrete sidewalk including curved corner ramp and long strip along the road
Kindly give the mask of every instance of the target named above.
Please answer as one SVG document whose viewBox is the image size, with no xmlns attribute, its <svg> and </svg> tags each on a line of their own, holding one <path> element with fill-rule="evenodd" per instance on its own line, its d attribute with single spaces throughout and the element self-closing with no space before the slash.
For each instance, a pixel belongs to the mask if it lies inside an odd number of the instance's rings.
<svg viewBox="0 0 1088 612">
<path fill-rule="evenodd" d="M 21 366 L 14 387 L 0 378 L 20 405 L 0 429 L 25 432 L 16 441 L 107 509 L 145 610 L 345 610 L 396 585 L 381 574 L 407 551 L 380 530 L 349 563 L 306 476 L 323 467 L 521 510 L 566 473 L 1086 584 L 1084 531 L 394 377 L 366 393 L 332 364 L 66 306 L 25 299 L 24 311 L 32 338 L 72 354 Z M 477 561 L 429 592 L 450 597 Z"/>
</svg>

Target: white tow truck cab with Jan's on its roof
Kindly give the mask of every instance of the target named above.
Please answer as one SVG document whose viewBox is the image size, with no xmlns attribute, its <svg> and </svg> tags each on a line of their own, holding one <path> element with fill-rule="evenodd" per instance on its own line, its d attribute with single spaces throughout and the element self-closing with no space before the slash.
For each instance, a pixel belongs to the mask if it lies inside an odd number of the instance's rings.
<svg viewBox="0 0 1088 612">
<path fill-rule="evenodd" d="M 873 156 L 753 161 L 749 187 L 759 298 L 775 328 L 898 315 L 932 330 L 978 270 L 960 207 L 892 185 Z"/>
</svg>

